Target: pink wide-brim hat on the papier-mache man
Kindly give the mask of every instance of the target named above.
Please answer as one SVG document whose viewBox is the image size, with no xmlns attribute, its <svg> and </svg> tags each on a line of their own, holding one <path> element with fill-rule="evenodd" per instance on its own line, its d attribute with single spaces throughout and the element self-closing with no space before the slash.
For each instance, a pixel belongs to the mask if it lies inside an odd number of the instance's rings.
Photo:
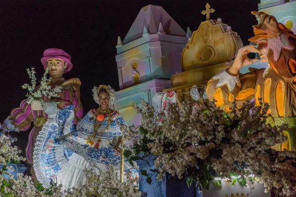
<svg viewBox="0 0 296 197">
<path fill-rule="evenodd" d="M 41 58 L 41 63 L 44 66 L 44 70 L 47 67 L 48 59 L 51 59 L 51 58 L 59 58 L 67 62 L 68 67 L 66 68 L 64 73 L 70 71 L 73 67 L 73 64 L 71 63 L 71 55 L 66 53 L 63 49 L 50 48 L 44 51 L 43 58 Z"/>
</svg>

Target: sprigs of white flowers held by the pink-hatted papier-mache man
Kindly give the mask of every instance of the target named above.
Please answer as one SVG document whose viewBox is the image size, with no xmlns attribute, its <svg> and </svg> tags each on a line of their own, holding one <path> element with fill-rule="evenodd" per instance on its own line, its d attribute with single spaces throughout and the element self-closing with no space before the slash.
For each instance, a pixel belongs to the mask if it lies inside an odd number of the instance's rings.
<svg viewBox="0 0 296 197">
<path fill-rule="evenodd" d="M 37 91 L 35 91 L 35 88 L 36 88 L 35 68 L 32 67 L 31 70 L 30 68 L 27 68 L 27 72 L 28 72 L 29 78 L 31 79 L 31 84 L 32 84 L 32 86 L 30 86 L 29 84 L 25 83 L 22 86 L 23 89 L 28 89 L 28 93 L 26 95 L 26 97 L 28 97 L 27 103 L 31 103 L 32 100 L 39 100 L 41 103 L 41 106 L 43 108 L 46 108 L 46 103 L 42 99 L 42 95 L 47 97 L 47 99 L 50 99 L 51 97 L 58 98 L 59 93 L 62 92 L 62 86 L 56 86 L 52 88 L 50 85 L 48 85 L 49 82 L 51 81 L 51 77 L 49 78 L 46 77 L 48 73 L 48 67 L 47 67 L 45 69 L 43 77 L 41 78 L 39 88 L 37 89 Z"/>
</svg>

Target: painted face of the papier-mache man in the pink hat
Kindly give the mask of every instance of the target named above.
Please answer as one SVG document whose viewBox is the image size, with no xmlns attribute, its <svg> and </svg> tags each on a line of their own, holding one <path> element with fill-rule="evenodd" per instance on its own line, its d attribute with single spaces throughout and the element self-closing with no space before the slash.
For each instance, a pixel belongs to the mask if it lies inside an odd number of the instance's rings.
<svg viewBox="0 0 296 197">
<path fill-rule="evenodd" d="M 52 78 L 61 78 L 68 64 L 60 58 L 50 58 L 47 60 L 47 67 L 48 73 Z"/>
</svg>

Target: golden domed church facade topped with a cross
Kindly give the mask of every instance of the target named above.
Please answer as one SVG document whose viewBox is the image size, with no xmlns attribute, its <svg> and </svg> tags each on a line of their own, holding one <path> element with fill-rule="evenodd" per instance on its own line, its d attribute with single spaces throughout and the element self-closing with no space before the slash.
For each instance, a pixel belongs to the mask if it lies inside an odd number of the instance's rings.
<svg viewBox="0 0 296 197">
<path fill-rule="evenodd" d="M 176 90 L 181 100 L 189 97 L 193 85 L 205 86 L 215 74 L 230 67 L 243 47 L 240 36 L 222 23 L 221 18 L 210 19 L 210 13 L 214 11 L 207 3 L 201 12 L 206 15 L 206 21 L 201 22 L 183 49 L 182 72 L 172 75 L 172 88 L 164 90 Z"/>
</svg>

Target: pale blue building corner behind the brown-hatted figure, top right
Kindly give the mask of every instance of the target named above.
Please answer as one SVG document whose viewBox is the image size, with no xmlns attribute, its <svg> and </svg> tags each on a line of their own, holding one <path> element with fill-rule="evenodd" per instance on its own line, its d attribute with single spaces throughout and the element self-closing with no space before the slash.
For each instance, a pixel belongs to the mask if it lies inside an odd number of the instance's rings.
<svg viewBox="0 0 296 197">
<path fill-rule="evenodd" d="M 296 33 L 296 0 L 261 0 L 258 8 Z"/>
</svg>

